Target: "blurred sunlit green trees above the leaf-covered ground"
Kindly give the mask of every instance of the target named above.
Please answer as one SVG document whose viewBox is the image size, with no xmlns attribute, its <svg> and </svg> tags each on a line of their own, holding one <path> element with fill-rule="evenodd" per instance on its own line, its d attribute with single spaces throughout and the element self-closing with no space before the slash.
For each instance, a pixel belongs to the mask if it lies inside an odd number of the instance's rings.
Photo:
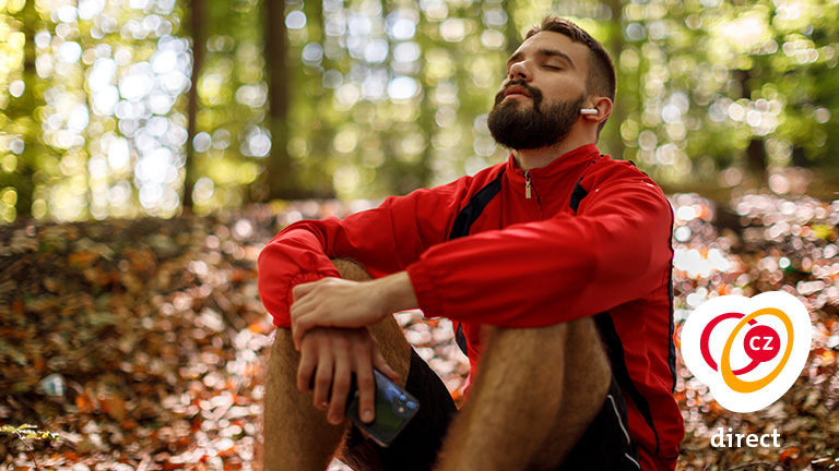
<svg viewBox="0 0 839 471">
<path fill-rule="evenodd" d="M 507 56 L 548 12 L 612 51 L 601 147 L 663 185 L 839 171 L 829 0 L 287 0 L 282 25 L 267 5 L 0 0 L 0 220 L 172 216 L 185 184 L 205 214 L 473 173 L 506 156 L 485 116 Z M 269 57 L 272 35 L 284 47 Z"/>
</svg>

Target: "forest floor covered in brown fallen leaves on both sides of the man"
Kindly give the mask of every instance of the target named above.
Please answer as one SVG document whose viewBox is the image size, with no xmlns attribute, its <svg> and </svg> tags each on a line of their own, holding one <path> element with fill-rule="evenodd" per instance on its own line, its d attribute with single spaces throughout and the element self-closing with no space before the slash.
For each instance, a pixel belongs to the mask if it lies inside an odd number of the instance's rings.
<svg viewBox="0 0 839 471">
<path fill-rule="evenodd" d="M 675 396 L 687 427 L 678 469 L 836 469 L 839 201 L 671 201 L 676 338 L 690 310 L 718 294 L 783 290 L 805 303 L 814 326 L 799 381 L 755 413 L 722 409 L 678 359 Z M 211 217 L 0 227 L 0 469 L 257 468 L 261 363 L 273 330 L 257 256 L 295 220 L 366 206 L 299 202 Z M 461 401 L 469 367 L 450 322 L 398 318 Z M 22 425 L 29 427 L 14 431 Z M 713 448 L 719 427 L 778 430 L 782 444 Z"/>
</svg>

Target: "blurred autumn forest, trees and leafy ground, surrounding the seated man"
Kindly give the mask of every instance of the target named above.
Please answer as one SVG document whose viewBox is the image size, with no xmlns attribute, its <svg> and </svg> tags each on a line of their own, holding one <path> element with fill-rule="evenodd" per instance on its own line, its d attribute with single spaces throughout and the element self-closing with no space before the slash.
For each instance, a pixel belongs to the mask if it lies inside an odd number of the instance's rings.
<svg viewBox="0 0 839 471">
<path fill-rule="evenodd" d="M 709 297 L 772 289 L 814 318 L 784 410 L 725 414 L 680 370 L 682 464 L 836 466 L 830 0 L 0 0 L 0 424 L 62 434 L 47 445 L 10 428 L 0 463 L 28 466 L 34 447 L 59 468 L 247 468 L 261 394 L 249 378 L 270 333 L 259 249 L 299 218 L 501 161 L 486 113 L 548 12 L 615 59 L 600 147 L 671 195 L 677 321 Z M 448 325 L 402 322 L 457 396 Z M 720 421 L 801 436 L 763 455 L 710 450 Z"/>
</svg>

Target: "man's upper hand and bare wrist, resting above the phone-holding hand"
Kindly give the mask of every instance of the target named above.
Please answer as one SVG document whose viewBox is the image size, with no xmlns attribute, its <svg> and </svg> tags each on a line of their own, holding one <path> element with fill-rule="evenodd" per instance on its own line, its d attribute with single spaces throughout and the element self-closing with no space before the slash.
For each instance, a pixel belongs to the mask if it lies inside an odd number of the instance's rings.
<svg viewBox="0 0 839 471">
<path fill-rule="evenodd" d="M 298 349 L 306 331 L 314 327 L 364 327 L 395 311 L 417 307 L 405 271 L 362 282 L 323 278 L 297 285 L 292 294 L 292 333 Z"/>
</svg>

